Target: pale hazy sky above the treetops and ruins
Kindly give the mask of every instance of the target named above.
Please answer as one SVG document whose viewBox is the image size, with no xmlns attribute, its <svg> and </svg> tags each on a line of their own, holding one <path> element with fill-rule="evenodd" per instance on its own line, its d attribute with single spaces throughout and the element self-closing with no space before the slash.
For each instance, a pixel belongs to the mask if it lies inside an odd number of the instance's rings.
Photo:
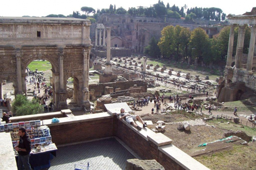
<svg viewBox="0 0 256 170">
<path fill-rule="evenodd" d="M 80 11 L 81 7 L 92 7 L 97 9 L 109 8 L 109 5 L 116 5 L 116 9 L 123 7 L 150 7 L 158 0 L 2 0 L 0 4 L 0 16 L 47 16 L 49 14 L 73 14 L 73 11 Z M 185 4 L 193 7 L 217 7 L 225 14 L 240 15 L 251 12 L 256 7 L 256 0 L 163 0 L 164 5 L 169 3 L 170 7 L 175 4 L 179 8 Z M 81 14 L 84 14 L 81 12 Z"/>
</svg>

